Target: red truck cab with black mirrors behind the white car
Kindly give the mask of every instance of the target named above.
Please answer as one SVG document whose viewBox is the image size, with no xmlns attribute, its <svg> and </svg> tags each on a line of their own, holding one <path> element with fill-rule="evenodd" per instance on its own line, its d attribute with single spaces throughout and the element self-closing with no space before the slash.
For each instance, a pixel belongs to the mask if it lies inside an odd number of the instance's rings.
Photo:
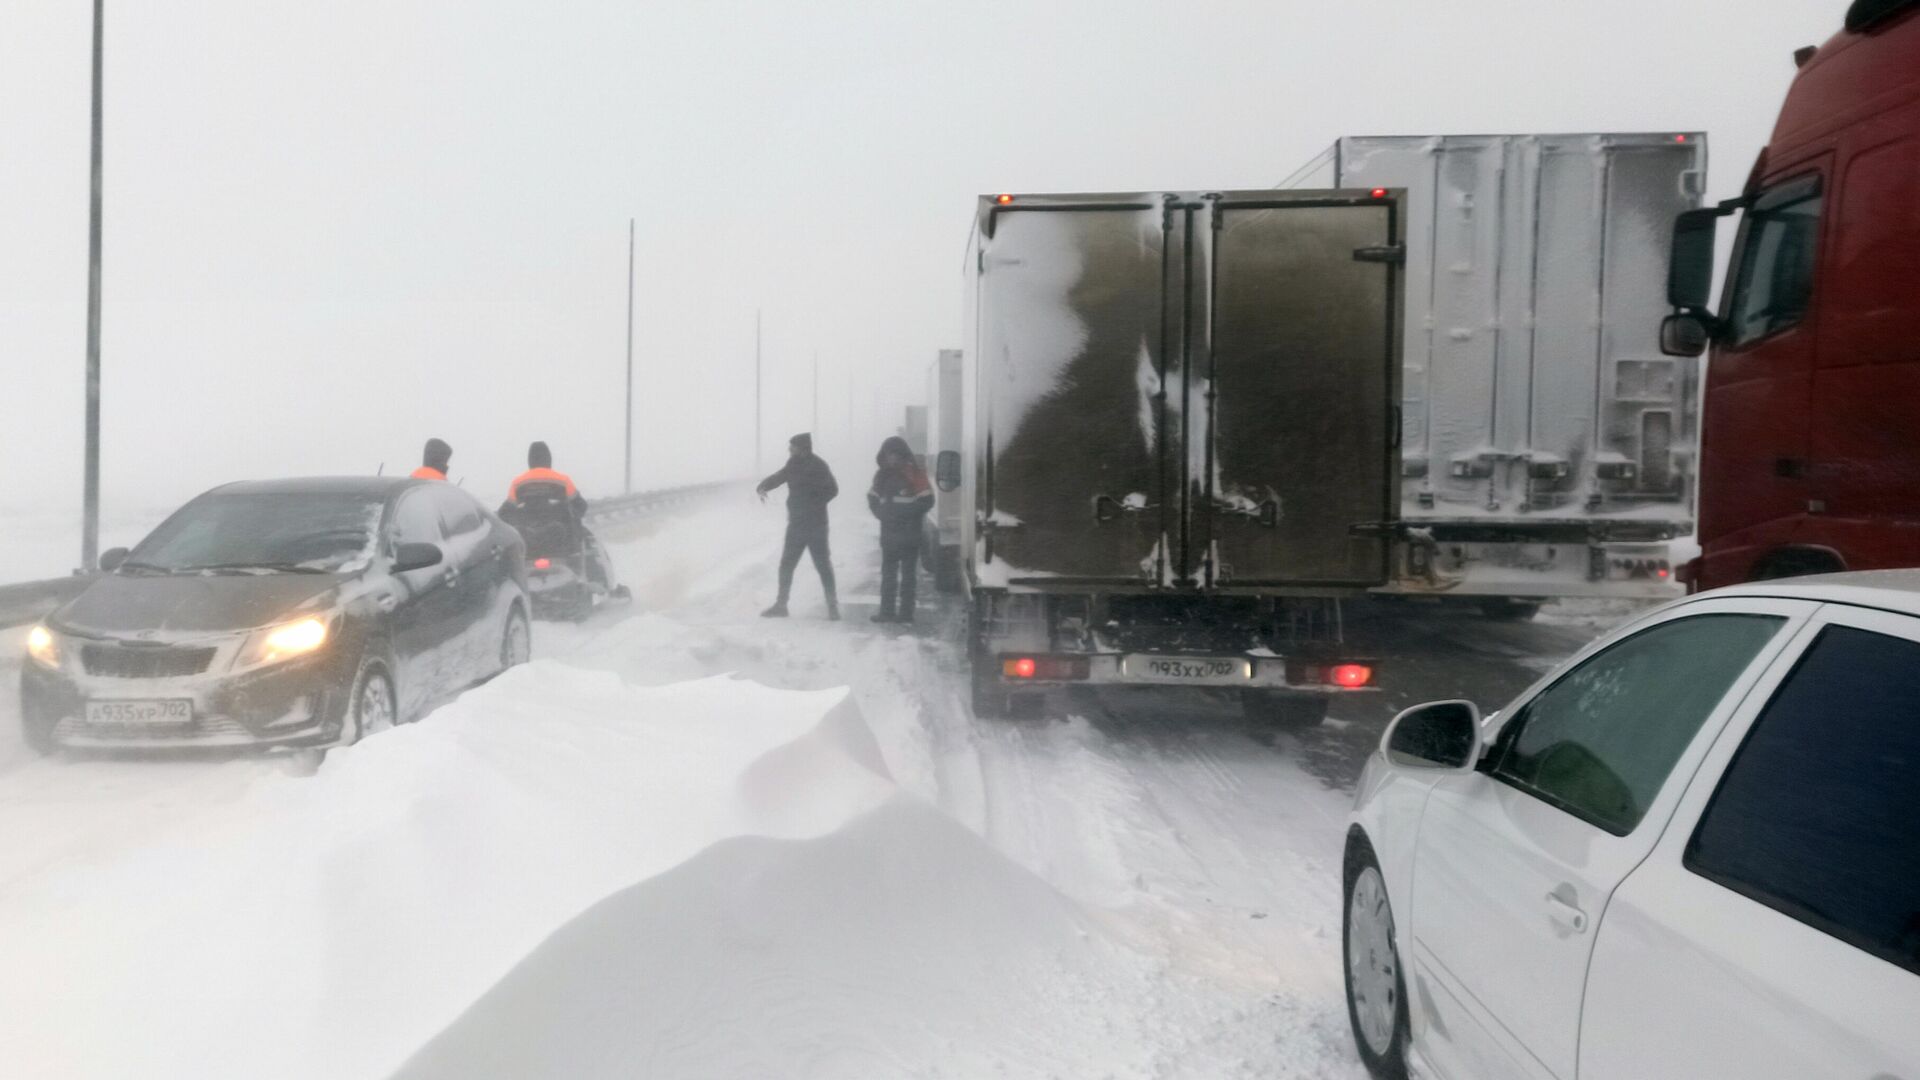
<svg viewBox="0 0 1920 1080">
<path fill-rule="evenodd" d="M 1695 592 L 1920 565 L 1920 0 L 1857 0 L 1799 60 L 1745 194 L 1674 225 L 1661 344 L 1711 344 Z"/>
</svg>

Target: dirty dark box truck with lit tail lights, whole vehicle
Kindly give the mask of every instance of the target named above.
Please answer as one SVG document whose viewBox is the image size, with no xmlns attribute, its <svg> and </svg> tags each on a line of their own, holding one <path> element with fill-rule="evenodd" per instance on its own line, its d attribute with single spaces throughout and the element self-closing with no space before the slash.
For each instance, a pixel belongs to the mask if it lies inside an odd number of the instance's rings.
<svg viewBox="0 0 1920 1080">
<path fill-rule="evenodd" d="M 1000 194 L 966 263 L 977 715 L 1044 688 L 1365 688 L 1342 600 L 1392 580 L 1405 194 Z"/>
</svg>

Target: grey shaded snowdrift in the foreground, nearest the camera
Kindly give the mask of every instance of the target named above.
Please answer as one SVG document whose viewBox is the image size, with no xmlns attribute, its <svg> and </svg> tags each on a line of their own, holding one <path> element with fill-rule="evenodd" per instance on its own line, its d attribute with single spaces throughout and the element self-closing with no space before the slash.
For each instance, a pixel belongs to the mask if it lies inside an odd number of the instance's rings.
<svg viewBox="0 0 1920 1080">
<path fill-rule="evenodd" d="M 1100 1076 L 1144 1057 L 1135 957 L 899 798 L 733 840 L 557 932 L 401 1076 Z"/>
</svg>

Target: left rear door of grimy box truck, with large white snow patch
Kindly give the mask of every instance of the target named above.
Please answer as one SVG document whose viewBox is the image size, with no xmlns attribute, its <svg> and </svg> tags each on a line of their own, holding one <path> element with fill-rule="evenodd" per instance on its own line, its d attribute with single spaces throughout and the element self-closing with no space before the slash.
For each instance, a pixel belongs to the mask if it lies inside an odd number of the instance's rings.
<svg viewBox="0 0 1920 1080">
<path fill-rule="evenodd" d="M 983 534 L 1004 580 L 1160 577 L 1175 513 L 1160 454 L 1165 231 L 1164 208 L 1144 196 L 989 211 L 977 267 Z"/>
</svg>

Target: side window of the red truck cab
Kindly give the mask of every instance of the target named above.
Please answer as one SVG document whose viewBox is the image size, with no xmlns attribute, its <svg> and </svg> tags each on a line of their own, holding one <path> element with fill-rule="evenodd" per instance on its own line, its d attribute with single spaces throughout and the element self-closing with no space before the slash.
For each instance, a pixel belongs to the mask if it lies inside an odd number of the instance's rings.
<svg viewBox="0 0 1920 1080">
<path fill-rule="evenodd" d="M 1818 179 L 1793 181 L 1761 196 L 1747 213 L 1726 304 L 1730 346 L 1778 334 L 1807 315 L 1820 250 L 1822 202 Z"/>
</svg>

